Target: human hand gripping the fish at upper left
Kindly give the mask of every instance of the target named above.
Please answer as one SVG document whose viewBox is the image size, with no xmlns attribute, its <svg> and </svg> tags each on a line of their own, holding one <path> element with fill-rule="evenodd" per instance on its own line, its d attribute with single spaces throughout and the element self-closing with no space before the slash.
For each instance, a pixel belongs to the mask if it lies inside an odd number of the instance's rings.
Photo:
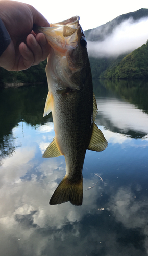
<svg viewBox="0 0 148 256">
<path fill-rule="evenodd" d="M 0 18 L 11 42 L 0 57 L 0 66 L 9 71 L 28 69 L 45 60 L 50 46 L 43 33 L 35 34 L 33 25 L 50 27 L 47 20 L 31 5 L 0 0 Z"/>
</svg>

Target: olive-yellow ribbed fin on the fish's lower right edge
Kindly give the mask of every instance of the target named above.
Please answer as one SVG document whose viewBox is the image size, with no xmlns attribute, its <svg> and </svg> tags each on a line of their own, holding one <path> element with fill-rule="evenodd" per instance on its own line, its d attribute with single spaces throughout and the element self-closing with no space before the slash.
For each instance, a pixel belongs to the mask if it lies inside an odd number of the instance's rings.
<svg viewBox="0 0 148 256">
<path fill-rule="evenodd" d="M 98 129 L 97 125 L 93 123 L 93 130 L 88 146 L 88 150 L 103 151 L 106 149 L 108 143 L 103 133 Z"/>
</svg>

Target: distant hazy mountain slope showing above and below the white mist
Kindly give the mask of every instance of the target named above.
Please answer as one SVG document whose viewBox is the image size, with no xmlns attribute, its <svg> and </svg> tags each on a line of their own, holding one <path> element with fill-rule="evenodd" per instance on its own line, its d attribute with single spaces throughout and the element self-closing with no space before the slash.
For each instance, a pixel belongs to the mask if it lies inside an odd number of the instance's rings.
<svg viewBox="0 0 148 256">
<path fill-rule="evenodd" d="M 86 39 L 89 41 L 104 41 L 108 36 L 110 36 L 115 30 L 115 28 L 120 25 L 122 22 L 128 20 L 129 18 L 133 19 L 135 22 L 141 18 L 148 19 L 148 9 L 139 9 L 135 12 L 130 12 L 127 14 L 120 15 L 113 19 L 111 22 L 107 22 L 104 25 L 101 25 L 97 28 L 84 31 Z M 147 38 L 148 39 L 148 38 Z M 145 41 L 146 42 L 146 41 Z M 104 76 L 104 72 L 107 69 L 111 69 L 116 66 L 127 54 L 130 52 L 119 55 L 118 57 L 90 57 L 90 65 L 92 70 L 93 79 L 98 79 Z M 140 64 L 139 64 L 140 65 Z M 111 78 L 110 78 L 111 79 Z"/>
</svg>

